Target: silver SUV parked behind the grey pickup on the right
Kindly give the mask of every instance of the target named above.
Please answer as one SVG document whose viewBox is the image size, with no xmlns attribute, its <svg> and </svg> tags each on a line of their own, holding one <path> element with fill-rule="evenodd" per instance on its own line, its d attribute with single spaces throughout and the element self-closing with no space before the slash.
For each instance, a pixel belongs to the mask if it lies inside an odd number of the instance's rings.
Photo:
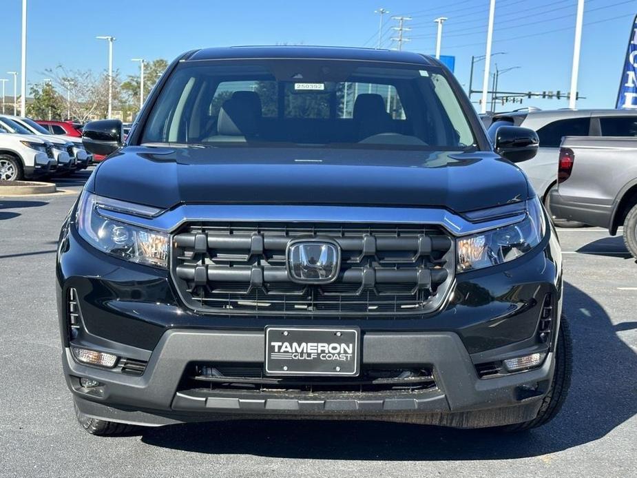
<svg viewBox="0 0 637 478">
<path fill-rule="evenodd" d="M 540 138 L 538 154 L 519 167 L 551 214 L 556 226 L 576 227 L 581 222 L 561 218 L 551 205 L 556 188 L 559 148 L 563 136 L 634 136 L 637 111 L 629 110 L 519 110 L 493 116 L 491 128 L 512 123 L 534 129 Z"/>
</svg>

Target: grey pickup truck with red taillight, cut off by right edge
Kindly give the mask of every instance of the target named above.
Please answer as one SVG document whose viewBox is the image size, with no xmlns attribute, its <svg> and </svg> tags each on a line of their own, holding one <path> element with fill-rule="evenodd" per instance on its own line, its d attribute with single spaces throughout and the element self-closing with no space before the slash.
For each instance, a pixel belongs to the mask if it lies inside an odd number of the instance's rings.
<svg viewBox="0 0 637 478">
<path fill-rule="evenodd" d="M 624 227 L 624 242 L 637 258 L 637 137 L 565 136 L 558 188 L 551 191 L 556 216 L 605 227 Z"/>
</svg>

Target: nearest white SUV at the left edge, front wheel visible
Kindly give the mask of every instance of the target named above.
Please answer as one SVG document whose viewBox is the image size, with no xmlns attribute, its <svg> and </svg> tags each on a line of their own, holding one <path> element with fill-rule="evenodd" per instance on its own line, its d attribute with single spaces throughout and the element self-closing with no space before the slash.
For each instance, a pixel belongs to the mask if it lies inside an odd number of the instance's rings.
<svg viewBox="0 0 637 478">
<path fill-rule="evenodd" d="M 12 134 L 0 125 L 0 180 L 36 179 L 55 171 L 53 145 L 36 136 Z"/>
</svg>

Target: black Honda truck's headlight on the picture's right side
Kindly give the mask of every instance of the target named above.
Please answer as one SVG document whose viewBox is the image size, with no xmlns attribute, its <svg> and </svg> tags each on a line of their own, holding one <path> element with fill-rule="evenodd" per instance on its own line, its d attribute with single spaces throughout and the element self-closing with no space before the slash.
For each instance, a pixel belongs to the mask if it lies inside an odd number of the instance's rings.
<svg viewBox="0 0 637 478">
<path fill-rule="evenodd" d="M 457 239 L 458 272 L 482 269 L 519 258 L 541 242 L 545 227 L 540 200 L 528 200 L 527 215 L 520 222 Z"/>
</svg>

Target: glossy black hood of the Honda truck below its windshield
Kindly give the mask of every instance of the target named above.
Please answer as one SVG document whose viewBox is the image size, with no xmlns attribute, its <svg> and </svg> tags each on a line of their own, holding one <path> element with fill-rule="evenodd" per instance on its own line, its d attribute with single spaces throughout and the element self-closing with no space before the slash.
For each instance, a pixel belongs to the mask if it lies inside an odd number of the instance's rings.
<svg viewBox="0 0 637 478">
<path fill-rule="evenodd" d="M 180 203 L 446 207 L 528 199 L 521 170 L 490 152 L 275 147 L 125 147 L 87 185 L 160 208 Z"/>
</svg>

